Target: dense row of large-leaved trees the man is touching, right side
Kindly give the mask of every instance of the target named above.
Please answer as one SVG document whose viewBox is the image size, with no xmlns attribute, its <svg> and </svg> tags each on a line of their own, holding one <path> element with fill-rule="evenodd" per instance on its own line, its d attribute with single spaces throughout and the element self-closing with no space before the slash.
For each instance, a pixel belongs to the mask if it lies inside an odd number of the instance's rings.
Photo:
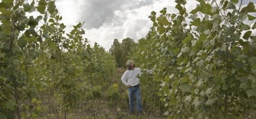
<svg viewBox="0 0 256 119">
<path fill-rule="evenodd" d="M 151 12 L 134 57 L 154 71 L 143 87 L 168 118 L 248 118 L 256 110 L 255 3 L 197 1 L 190 13 L 185 0 L 175 1 L 178 13 Z"/>
</svg>

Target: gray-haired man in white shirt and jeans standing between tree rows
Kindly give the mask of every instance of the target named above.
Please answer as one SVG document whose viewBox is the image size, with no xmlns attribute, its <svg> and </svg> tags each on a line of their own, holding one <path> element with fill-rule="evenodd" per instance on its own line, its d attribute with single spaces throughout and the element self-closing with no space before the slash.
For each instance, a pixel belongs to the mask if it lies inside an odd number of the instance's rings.
<svg viewBox="0 0 256 119">
<path fill-rule="evenodd" d="M 142 114 L 139 78 L 137 78 L 137 75 L 141 75 L 141 71 L 139 68 L 135 68 L 133 60 L 127 60 L 126 67 L 127 71 L 123 73 L 121 80 L 128 88 L 130 114 L 134 114 L 134 95 L 137 101 L 138 112 Z"/>
</svg>

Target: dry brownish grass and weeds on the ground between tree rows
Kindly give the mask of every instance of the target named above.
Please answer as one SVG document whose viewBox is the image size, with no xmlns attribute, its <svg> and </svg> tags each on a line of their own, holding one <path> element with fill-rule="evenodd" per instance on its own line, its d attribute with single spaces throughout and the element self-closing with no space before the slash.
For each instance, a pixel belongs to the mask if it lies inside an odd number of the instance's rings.
<svg viewBox="0 0 256 119">
<path fill-rule="evenodd" d="M 67 118 L 70 119 L 90 119 L 90 118 L 166 118 L 161 116 L 158 110 L 155 113 L 144 110 L 144 115 L 138 115 L 136 112 L 133 115 L 128 114 L 128 95 L 127 88 L 123 86 L 121 76 L 126 69 L 117 68 L 113 78 L 109 81 L 108 87 L 117 85 L 118 97 L 115 100 L 106 99 L 107 89 L 101 89 L 101 97 L 81 100 L 73 111 L 67 112 Z M 42 93 L 42 111 L 40 118 L 64 118 L 63 110 L 59 109 L 57 99 L 53 97 L 52 91 L 47 90 Z M 136 106 L 135 106 L 136 107 Z"/>
</svg>

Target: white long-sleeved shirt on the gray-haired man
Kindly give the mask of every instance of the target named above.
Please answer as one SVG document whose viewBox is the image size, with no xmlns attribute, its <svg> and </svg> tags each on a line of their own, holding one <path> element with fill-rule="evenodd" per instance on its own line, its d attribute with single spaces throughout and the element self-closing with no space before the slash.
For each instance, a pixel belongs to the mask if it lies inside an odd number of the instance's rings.
<svg viewBox="0 0 256 119">
<path fill-rule="evenodd" d="M 137 75 L 141 75 L 140 68 L 134 68 L 134 70 L 127 70 L 123 73 L 121 80 L 126 86 L 136 86 L 139 84 L 139 78 L 137 78 Z"/>
</svg>

